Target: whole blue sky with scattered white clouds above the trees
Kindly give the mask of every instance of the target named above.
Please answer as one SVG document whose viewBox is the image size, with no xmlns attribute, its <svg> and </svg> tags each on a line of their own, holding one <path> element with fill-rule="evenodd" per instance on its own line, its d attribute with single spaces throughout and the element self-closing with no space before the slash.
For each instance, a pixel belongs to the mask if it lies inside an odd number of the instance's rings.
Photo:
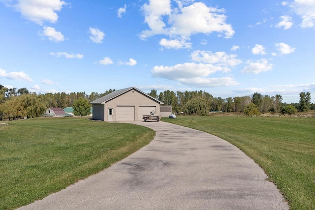
<svg viewBox="0 0 315 210">
<path fill-rule="evenodd" d="M 315 103 L 314 0 L 0 0 L 0 84 Z"/>
</svg>

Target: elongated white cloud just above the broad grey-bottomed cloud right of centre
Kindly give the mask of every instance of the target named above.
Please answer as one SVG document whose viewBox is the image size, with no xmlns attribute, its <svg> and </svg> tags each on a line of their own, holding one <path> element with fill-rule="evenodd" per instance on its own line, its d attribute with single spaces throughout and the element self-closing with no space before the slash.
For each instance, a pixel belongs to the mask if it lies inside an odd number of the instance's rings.
<svg viewBox="0 0 315 210">
<path fill-rule="evenodd" d="M 220 66 L 235 66 L 242 63 L 241 60 L 236 59 L 237 55 L 227 55 L 225 52 L 212 53 L 210 51 L 196 50 L 191 53 L 193 61 L 211 63 Z"/>
</svg>

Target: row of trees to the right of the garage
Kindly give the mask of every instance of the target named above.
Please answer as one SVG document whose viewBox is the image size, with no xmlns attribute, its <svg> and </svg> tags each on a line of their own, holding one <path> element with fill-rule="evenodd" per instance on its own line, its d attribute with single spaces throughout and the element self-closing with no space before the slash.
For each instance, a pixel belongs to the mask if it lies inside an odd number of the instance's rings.
<svg viewBox="0 0 315 210">
<path fill-rule="evenodd" d="M 315 109 L 311 103 L 311 93 L 301 92 L 300 102 L 286 104 L 280 94 L 275 96 L 262 95 L 254 92 L 252 95 L 237 97 L 214 97 L 206 91 L 170 91 L 157 93 L 151 90 L 148 93 L 164 105 L 171 105 L 174 113 L 185 113 L 188 115 L 208 115 L 209 111 L 238 112 L 246 115 L 259 115 L 260 113 L 283 113 L 294 114 Z"/>
</svg>

